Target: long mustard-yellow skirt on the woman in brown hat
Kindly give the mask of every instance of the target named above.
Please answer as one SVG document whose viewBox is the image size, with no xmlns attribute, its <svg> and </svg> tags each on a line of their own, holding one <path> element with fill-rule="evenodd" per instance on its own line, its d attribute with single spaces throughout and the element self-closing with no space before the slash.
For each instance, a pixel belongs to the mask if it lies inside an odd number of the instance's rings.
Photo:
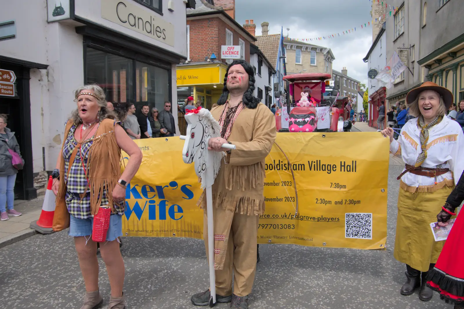
<svg viewBox="0 0 464 309">
<path fill-rule="evenodd" d="M 437 222 L 437 214 L 453 188 L 410 193 L 400 187 L 393 253 L 398 261 L 420 271 L 437 262 L 445 241 L 435 241 L 430 224 Z"/>
</svg>

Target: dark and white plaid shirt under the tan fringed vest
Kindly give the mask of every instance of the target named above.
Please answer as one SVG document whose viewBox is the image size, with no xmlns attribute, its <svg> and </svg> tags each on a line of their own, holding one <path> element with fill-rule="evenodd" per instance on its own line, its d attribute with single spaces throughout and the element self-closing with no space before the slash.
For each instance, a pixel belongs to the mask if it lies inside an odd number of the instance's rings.
<svg viewBox="0 0 464 309">
<path fill-rule="evenodd" d="M 119 123 L 119 122 L 118 122 Z M 116 122 L 115 122 L 116 124 Z M 89 155 L 90 147 L 93 143 L 93 136 L 85 140 L 82 143 L 81 149 L 77 150 L 76 158 L 71 166 L 71 171 L 68 175 L 69 169 L 69 160 L 71 159 L 71 154 L 76 148 L 77 141 L 74 138 L 74 132 L 76 131 L 76 126 L 73 125 L 69 131 L 68 138 L 64 143 L 63 148 L 63 158 L 64 158 L 64 181 L 67 182 L 67 192 L 65 195 L 66 206 L 68 207 L 68 212 L 77 219 L 87 219 L 92 215 L 90 214 L 90 191 L 87 190 L 87 194 L 81 200 L 79 194 L 84 193 L 85 187 L 87 187 L 87 178 L 84 173 L 87 171 L 87 158 Z M 81 154 L 84 157 L 84 164 L 82 162 Z M 108 204 L 108 198 L 106 197 L 106 189 L 103 190 L 102 197 L 102 206 Z M 124 202 L 121 201 L 119 204 L 115 205 L 116 212 L 120 215 L 124 213 Z"/>
</svg>

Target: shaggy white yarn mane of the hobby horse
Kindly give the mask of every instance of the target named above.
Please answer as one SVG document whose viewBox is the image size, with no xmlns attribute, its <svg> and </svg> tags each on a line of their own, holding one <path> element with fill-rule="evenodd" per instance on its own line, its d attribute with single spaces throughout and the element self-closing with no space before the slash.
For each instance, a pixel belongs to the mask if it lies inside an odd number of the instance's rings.
<svg viewBox="0 0 464 309">
<path fill-rule="evenodd" d="M 198 112 L 198 116 L 201 118 L 206 118 L 208 121 L 208 124 L 211 123 L 211 128 L 208 130 L 208 134 L 205 134 L 205 138 L 214 138 L 214 137 L 220 137 L 221 136 L 221 126 L 219 125 L 219 122 L 214 119 L 213 115 L 211 115 L 211 112 L 208 109 L 200 109 Z M 219 152 L 219 151 L 211 151 L 211 156 L 210 158 L 213 160 L 212 162 L 206 162 L 206 156 L 201 155 L 199 158 L 196 160 L 199 160 L 198 163 L 200 163 L 200 166 L 203 164 L 206 164 L 208 167 L 213 167 L 213 176 L 214 179 L 216 179 L 216 176 L 219 173 L 219 169 L 221 167 L 221 159 L 226 155 L 225 152 Z M 205 177 L 203 177 L 205 174 L 205 171 L 200 171 L 199 176 L 201 177 L 201 188 L 205 189 L 206 188 L 206 181 Z"/>
</svg>

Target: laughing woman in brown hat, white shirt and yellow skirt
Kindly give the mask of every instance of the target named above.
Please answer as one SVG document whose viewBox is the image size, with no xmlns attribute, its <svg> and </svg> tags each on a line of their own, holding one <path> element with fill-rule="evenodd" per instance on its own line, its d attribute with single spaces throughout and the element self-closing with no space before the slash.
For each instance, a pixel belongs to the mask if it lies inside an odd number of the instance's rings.
<svg viewBox="0 0 464 309">
<path fill-rule="evenodd" d="M 430 223 L 458 181 L 453 175 L 463 173 L 464 135 L 459 124 L 445 116 L 453 102 L 450 90 L 425 82 L 409 91 L 406 102 L 409 113 L 417 118 L 406 122 L 397 141 L 392 128 L 381 131 L 390 137 L 390 151 L 406 163 L 398 177 L 394 257 L 406 264 L 406 283 L 400 293 L 411 295 L 420 286 L 419 299 L 428 301 L 432 290 L 425 278 L 445 243 L 435 241 Z"/>
</svg>

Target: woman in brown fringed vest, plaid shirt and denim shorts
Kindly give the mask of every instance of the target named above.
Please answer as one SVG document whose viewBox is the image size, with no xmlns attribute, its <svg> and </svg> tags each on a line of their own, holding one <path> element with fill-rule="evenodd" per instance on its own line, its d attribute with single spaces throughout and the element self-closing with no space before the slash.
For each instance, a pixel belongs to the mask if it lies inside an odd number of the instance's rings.
<svg viewBox="0 0 464 309">
<path fill-rule="evenodd" d="M 76 93 L 77 109 L 66 123 L 64 143 L 53 171 L 52 190 L 66 201 L 70 213 L 69 235 L 74 237 L 85 283 L 81 309 L 99 308 L 97 243 L 92 240 L 94 216 L 109 208 L 110 224 L 100 252 L 110 279 L 110 309 L 124 309 L 124 262 L 119 251 L 126 185 L 137 172 L 142 152 L 107 109 L 105 93 L 97 85 L 85 85 Z M 121 175 L 121 149 L 130 157 Z M 103 212 L 103 211 L 102 211 Z"/>
</svg>

